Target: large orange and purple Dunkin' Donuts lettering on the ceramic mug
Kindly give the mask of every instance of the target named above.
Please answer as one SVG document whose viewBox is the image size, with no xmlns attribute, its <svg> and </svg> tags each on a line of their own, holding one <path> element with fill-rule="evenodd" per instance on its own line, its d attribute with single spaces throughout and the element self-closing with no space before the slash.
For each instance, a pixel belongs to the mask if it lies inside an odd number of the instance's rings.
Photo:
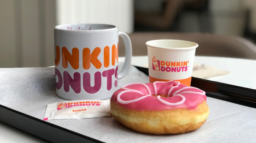
<svg viewBox="0 0 256 143">
<path fill-rule="evenodd" d="M 79 53 L 82 53 L 82 57 L 79 57 Z M 100 53 L 103 53 L 104 55 L 102 60 L 99 60 L 98 58 Z M 71 87 L 75 93 L 80 93 L 81 90 L 85 90 L 87 93 L 94 94 L 98 92 L 104 84 L 107 85 L 107 90 L 111 90 L 111 88 L 114 86 L 117 87 L 118 66 L 116 68 L 114 68 L 114 66 L 116 65 L 116 63 L 118 63 L 118 43 L 117 46 L 113 44 L 112 47 L 105 46 L 102 49 L 99 47 L 95 47 L 94 49 L 78 49 L 74 47 L 72 48 L 71 53 L 65 46 L 61 48 L 57 45 L 55 47 L 55 55 L 55 66 L 58 66 L 60 61 L 62 61 L 62 65 L 60 66 L 64 69 L 66 69 L 68 66 L 71 66 L 74 70 L 79 69 L 79 61 L 82 61 L 81 68 L 83 68 L 84 70 L 89 70 L 92 67 L 95 69 L 113 67 L 112 69 L 108 69 L 105 71 L 96 70 L 95 73 L 75 72 L 74 74 L 70 74 L 68 71 L 64 71 L 62 74 L 58 70 L 58 68 L 55 68 L 55 77 L 57 77 L 58 79 L 55 81 L 55 86 L 57 89 L 63 87 L 64 91 L 69 92 Z M 70 65 L 68 65 L 68 63 Z M 91 78 L 94 78 L 95 82 L 92 84 L 94 86 L 91 86 Z M 102 78 L 106 79 L 104 80 L 106 81 L 106 83 L 101 82 Z M 112 79 L 114 79 L 115 82 L 112 82 Z M 81 80 L 83 85 L 81 85 Z"/>
</svg>

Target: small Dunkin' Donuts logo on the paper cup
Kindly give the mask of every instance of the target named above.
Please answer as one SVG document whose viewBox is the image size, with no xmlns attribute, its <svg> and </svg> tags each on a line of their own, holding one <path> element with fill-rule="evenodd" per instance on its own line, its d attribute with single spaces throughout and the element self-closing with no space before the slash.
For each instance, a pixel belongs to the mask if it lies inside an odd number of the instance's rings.
<svg viewBox="0 0 256 143">
<path fill-rule="evenodd" d="M 152 58 L 152 68 L 155 71 L 185 72 L 188 70 L 189 61 L 162 61 Z"/>
</svg>

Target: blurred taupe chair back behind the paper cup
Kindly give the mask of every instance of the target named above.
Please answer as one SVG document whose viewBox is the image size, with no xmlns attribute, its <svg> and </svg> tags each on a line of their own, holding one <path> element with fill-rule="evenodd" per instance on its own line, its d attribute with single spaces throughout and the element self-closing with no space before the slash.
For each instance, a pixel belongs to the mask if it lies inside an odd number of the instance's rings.
<svg viewBox="0 0 256 143">
<path fill-rule="evenodd" d="M 187 40 L 198 43 L 196 56 L 220 56 L 256 59 L 256 45 L 237 36 L 208 33 L 134 32 L 129 34 L 133 56 L 147 55 L 146 41 L 158 39 Z M 124 56 L 124 43 L 119 39 L 119 56 Z"/>
</svg>

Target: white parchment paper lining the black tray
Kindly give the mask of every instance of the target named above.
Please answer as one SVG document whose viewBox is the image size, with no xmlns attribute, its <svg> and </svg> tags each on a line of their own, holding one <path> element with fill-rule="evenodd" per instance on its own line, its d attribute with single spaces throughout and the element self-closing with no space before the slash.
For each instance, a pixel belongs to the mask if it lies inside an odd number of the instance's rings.
<svg viewBox="0 0 256 143">
<path fill-rule="evenodd" d="M 47 104 L 65 101 L 55 93 L 54 68 L 0 69 L 0 104 L 43 120 Z M 148 83 L 148 76 L 131 66 L 118 80 Z M 111 117 L 58 119 L 47 122 L 104 142 L 256 142 L 256 109 L 207 97 L 210 114 L 198 129 L 180 135 L 142 134 Z M 2 116 L 2 115 L 1 115 Z"/>
</svg>

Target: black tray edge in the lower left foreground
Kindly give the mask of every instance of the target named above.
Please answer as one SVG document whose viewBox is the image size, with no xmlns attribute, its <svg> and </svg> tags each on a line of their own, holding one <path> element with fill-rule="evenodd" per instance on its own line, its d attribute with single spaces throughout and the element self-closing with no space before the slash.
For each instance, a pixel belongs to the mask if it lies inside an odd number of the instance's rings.
<svg viewBox="0 0 256 143">
<path fill-rule="evenodd" d="M 13 110 L 1 104 L 0 113 L 0 121 L 50 142 L 102 142 L 89 136 L 82 135 L 66 128 L 46 122 L 42 119 L 34 118 L 30 115 L 24 114 L 17 110 Z"/>
</svg>

